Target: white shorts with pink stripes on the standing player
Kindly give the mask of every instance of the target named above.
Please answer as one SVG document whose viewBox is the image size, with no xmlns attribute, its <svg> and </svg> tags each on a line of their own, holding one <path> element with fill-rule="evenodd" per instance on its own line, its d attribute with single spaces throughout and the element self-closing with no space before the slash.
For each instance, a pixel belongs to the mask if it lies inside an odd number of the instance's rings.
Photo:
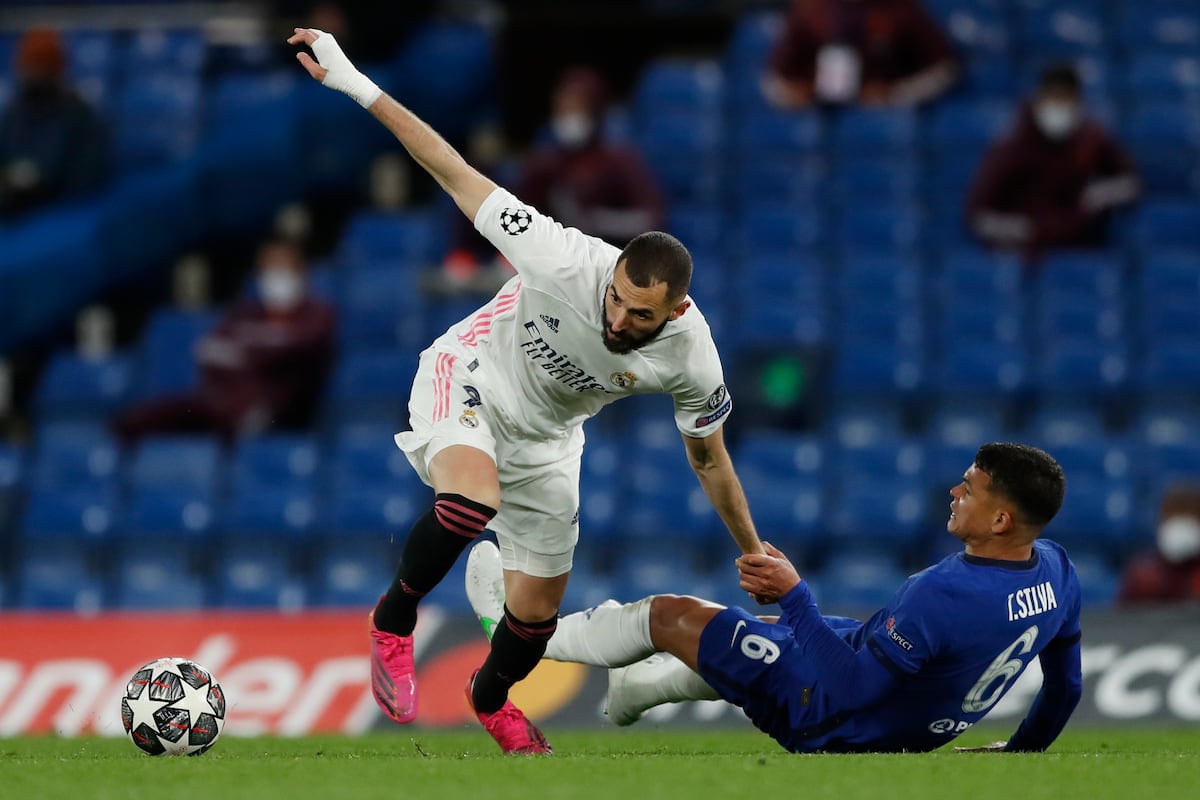
<svg viewBox="0 0 1200 800">
<path fill-rule="evenodd" d="M 408 401 L 412 431 L 396 434 L 421 480 L 430 462 L 451 445 L 486 452 L 500 479 L 500 509 L 487 525 L 496 531 L 500 563 L 539 578 L 571 571 L 580 539 L 580 459 L 583 429 L 551 441 L 526 439 L 490 408 L 464 360 L 438 350 L 421 354 Z"/>
</svg>

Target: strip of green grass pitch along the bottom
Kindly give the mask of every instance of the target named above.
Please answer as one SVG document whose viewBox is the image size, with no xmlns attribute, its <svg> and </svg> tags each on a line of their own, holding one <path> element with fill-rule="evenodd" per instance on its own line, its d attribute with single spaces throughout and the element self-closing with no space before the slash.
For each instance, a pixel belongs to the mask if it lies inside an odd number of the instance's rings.
<svg viewBox="0 0 1200 800">
<path fill-rule="evenodd" d="M 791 756 L 752 730 L 547 732 L 505 758 L 482 730 L 222 739 L 150 758 L 125 739 L 0 739 L 0 796 L 176 800 L 1105 800 L 1200 796 L 1200 730 L 1072 730 L 1039 754 Z M 959 744 L 1004 734 L 971 730 Z"/>
</svg>

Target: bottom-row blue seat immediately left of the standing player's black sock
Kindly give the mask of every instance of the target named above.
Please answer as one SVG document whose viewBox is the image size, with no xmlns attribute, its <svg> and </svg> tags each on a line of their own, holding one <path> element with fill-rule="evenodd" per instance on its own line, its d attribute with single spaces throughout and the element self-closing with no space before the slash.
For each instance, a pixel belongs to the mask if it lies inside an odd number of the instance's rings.
<svg viewBox="0 0 1200 800">
<path fill-rule="evenodd" d="M 310 602 L 314 606 L 371 608 L 391 584 L 398 559 L 398 546 L 386 541 L 325 542 L 313 557 Z"/>
</svg>

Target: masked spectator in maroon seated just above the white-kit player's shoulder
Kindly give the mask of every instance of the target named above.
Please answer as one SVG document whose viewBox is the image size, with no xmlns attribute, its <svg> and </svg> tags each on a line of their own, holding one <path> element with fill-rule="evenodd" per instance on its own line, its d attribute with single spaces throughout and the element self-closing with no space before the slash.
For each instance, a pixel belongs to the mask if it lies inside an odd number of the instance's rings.
<svg viewBox="0 0 1200 800">
<path fill-rule="evenodd" d="M 526 157 L 516 194 L 566 227 L 624 247 L 662 227 L 662 193 L 636 151 L 605 140 L 607 107 L 604 78 L 568 70 L 551 102 L 553 142 Z"/>
</svg>

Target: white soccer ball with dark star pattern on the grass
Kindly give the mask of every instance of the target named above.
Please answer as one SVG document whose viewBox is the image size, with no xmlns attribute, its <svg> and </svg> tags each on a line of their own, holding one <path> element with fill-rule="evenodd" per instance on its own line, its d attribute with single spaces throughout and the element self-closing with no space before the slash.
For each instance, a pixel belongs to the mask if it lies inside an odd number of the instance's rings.
<svg viewBox="0 0 1200 800">
<path fill-rule="evenodd" d="M 126 684 L 121 722 L 144 753 L 199 756 L 224 727 L 224 692 L 194 661 L 158 658 Z"/>
</svg>

